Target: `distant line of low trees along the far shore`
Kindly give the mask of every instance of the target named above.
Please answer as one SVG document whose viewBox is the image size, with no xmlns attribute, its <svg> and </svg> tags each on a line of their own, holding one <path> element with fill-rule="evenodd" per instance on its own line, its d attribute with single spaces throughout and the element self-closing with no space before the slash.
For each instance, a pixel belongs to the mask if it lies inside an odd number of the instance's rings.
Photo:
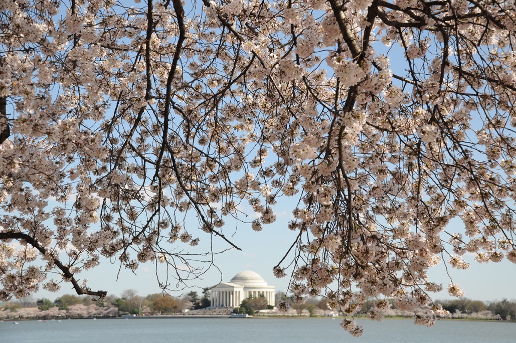
<svg viewBox="0 0 516 343">
<path fill-rule="evenodd" d="M 294 296 L 286 295 L 282 291 L 276 292 L 276 303 L 285 300 L 297 315 L 320 316 L 328 312 L 328 301 L 325 298 L 308 298 L 303 303 L 296 303 Z M 385 317 L 413 317 L 414 312 L 402 311 L 396 308 L 392 299 L 388 299 L 390 306 L 385 310 Z M 447 318 L 473 318 L 488 320 L 516 321 L 516 300 L 502 299 L 500 301 L 483 302 L 467 298 L 453 300 L 437 300 L 443 309 L 449 312 Z M 366 314 L 373 306 L 374 301 L 365 301 L 361 313 Z M 162 293 L 153 293 L 147 296 L 139 296 L 134 289 L 124 290 L 119 297 L 114 295 L 93 301 L 91 297 L 78 297 L 75 295 L 63 295 L 54 301 L 46 298 L 35 300 L 25 297 L 0 304 L 0 319 L 11 317 L 46 317 L 58 316 L 86 318 L 102 316 L 119 316 L 124 314 L 174 314 L 184 309 L 201 309 L 211 305 L 209 289 L 204 289 L 199 295 L 196 291 L 190 291 L 181 297 L 171 297 Z M 263 296 L 244 299 L 239 307 L 233 309 L 233 313 L 255 315 L 263 309 L 272 309 Z M 335 315 L 337 309 L 333 309 Z M 430 312 L 431 308 L 421 308 L 418 314 Z"/>
</svg>

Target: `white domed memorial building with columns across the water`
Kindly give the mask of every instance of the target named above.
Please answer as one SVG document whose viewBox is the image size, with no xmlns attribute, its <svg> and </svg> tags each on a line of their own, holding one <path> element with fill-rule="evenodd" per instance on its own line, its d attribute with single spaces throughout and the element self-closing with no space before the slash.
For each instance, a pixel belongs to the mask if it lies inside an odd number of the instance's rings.
<svg viewBox="0 0 516 343">
<path fill-rule="evenodd" d="M 212 288 L 212 307 L 238 307 L 244 299 L 264 296 L 267 305 L 274 306 L 274 286 L 268 286 L 262 276 L 244 270 L 233 276 L 230 282 L 222 282 Z"/>
</svg>

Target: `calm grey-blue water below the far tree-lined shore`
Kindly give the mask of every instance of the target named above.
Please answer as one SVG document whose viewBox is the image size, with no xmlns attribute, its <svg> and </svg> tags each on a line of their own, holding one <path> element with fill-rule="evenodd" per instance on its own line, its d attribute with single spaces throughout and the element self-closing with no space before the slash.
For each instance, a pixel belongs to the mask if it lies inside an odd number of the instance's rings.
<svg viewBox="0 0 516 343">
<path fill-rule="evenodd" d="M 411 320 L 358 320 L 364 333 L 356 338 L 339 319 L 75 319 L 0 322 L 2 343 L 228 343 L 228 342 L 515 342 L 516 323 L 437 321 L 433 328 Z"/>
</svg>

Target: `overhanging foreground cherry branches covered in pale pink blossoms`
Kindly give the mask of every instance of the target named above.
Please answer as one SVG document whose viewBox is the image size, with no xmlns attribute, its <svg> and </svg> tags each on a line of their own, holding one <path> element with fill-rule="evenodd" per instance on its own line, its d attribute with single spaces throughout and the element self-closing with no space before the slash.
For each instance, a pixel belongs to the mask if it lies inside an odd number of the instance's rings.
<svg viewBox="0 0 516 343">
<path fill-rule="evenodd" d="M 0 3 L 0 298 L 104 296 L 76 276 L 100 256 L 174 288 L 213 265 L 182 243 L 238 249 L 225 220 L 282 197 L 275 274 L 350 317 L 431 305 L 466 252 L 516 262 L 513 1 L 129 3 Z"/>
</svg>

